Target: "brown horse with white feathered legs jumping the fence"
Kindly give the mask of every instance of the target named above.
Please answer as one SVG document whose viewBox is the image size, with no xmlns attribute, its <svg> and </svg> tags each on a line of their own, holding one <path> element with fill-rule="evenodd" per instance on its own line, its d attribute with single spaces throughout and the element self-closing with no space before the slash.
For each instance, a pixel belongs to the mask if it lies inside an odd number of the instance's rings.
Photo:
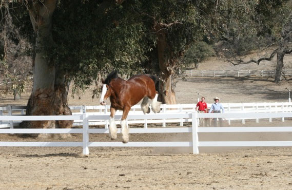
<svg viewBox="0 0 292 190">
<path fill-rule="evenodd" d="M 109 136 L 111 140 L 116 139 L 118 129 L 114 123 L 116 110 L 123 110 L 121 119 L 121 133 L 123 143 L 129 141 L 129 128 L 126 119 L 131 107 L 139 103 L 142 99 L 141 109 L 144 114 L 150 112 L 151 108 L 154 113 L 160 112 L 161 102 L 158 102 L 158 88 L 155 88 L 157 77 L 150 74 L 133 75 L 127 81 L 118 77 L 118 71 L 112 71 L 107 75 L 105 80 L 102 79 L 100 104 L 105 105 L 105 100 L 110 100 L 110 117 L 109 117 Z M 158 87 L 158 85 L 156 85 Z"/>
</svg>

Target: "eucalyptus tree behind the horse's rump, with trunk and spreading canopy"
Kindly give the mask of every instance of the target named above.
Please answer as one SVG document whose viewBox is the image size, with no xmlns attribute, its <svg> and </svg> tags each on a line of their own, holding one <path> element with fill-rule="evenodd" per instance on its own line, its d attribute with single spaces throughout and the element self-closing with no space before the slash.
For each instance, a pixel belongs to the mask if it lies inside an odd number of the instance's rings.
<svg viewBox="0 0 292 190">
<path fill-rule="evenodd" d="M 148 63 L 159 65 L 160 92 L 167 104 L 176 103 L 173 80 L 186 65 L 181 62 L 185 51 L 202 41 L 209 44 L 236 41 L 238 31 L 246 32 L 242 29 L 250 23 L 258 3 L 257 0 L 133 2 L 133 14 L 150 29 L 150 39 L 155 47 L 149 53 L 151 60 Z"/>
</svg>

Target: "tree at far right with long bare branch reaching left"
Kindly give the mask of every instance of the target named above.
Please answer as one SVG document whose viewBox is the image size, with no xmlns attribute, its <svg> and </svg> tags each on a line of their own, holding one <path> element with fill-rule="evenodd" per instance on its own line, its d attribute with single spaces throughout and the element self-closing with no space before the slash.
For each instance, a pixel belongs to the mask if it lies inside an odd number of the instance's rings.
<svg viewBox="0 0 292 190">
<path fill-rule="evenodd" d="M 260 1 L 257 5 L 256 15 L 254 20 L 255 31 L 258 40 L 263 37 L 268 39 L 261 46 L 276 46 L 268 58 L 260 58 L 258 60 L 243 61 L 241 59 L 233 59 L 230 61 L 233 65 L 257 63 L 261 61 L 271 61 L 277 54 L 277 65 L 274 82 L 281 81 L 282 69 L 284 66 L 283 59 L 285 54 L 292 52 L 291 32 L 292 32 L 292 3 L 290 1 Z"/>
</svg>

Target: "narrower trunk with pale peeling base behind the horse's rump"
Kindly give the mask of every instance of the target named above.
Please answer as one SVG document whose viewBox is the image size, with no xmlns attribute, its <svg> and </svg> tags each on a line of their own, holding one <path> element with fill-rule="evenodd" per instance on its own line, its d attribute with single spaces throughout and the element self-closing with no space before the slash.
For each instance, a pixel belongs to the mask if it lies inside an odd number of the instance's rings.
<svg viewBox="0 0 292 190">
<path fill-rule="evenodd" d="M 158 61 L 160 68 L 159 92 L 163 104 L 176 104 L 176 93 L 173 89 L 173 67 L 175 63 L 171 60 L 171 50 L 168 47 L 165 33 L 161 31 L 160 26 L 155 26 L 155 31 L 158 32 L 157 49 L 158 49 Z"/>
</svg>

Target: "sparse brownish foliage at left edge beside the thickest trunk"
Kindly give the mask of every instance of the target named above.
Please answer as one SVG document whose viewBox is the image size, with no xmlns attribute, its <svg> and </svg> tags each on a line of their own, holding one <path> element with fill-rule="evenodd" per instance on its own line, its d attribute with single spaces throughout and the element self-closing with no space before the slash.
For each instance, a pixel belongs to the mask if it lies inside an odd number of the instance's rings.
<svg viewBox="0 0 292 190">
<path fill-rule="evenodd" d="M 13 93 L 20 99 L 31 79 L 31 60 L 27 55 L 29 43 L 14 26 L 8 4 L 1 4 L 2 22 L 0 30 L 0 83 L 4 86 L 0 94 Z"/>
</svg>

